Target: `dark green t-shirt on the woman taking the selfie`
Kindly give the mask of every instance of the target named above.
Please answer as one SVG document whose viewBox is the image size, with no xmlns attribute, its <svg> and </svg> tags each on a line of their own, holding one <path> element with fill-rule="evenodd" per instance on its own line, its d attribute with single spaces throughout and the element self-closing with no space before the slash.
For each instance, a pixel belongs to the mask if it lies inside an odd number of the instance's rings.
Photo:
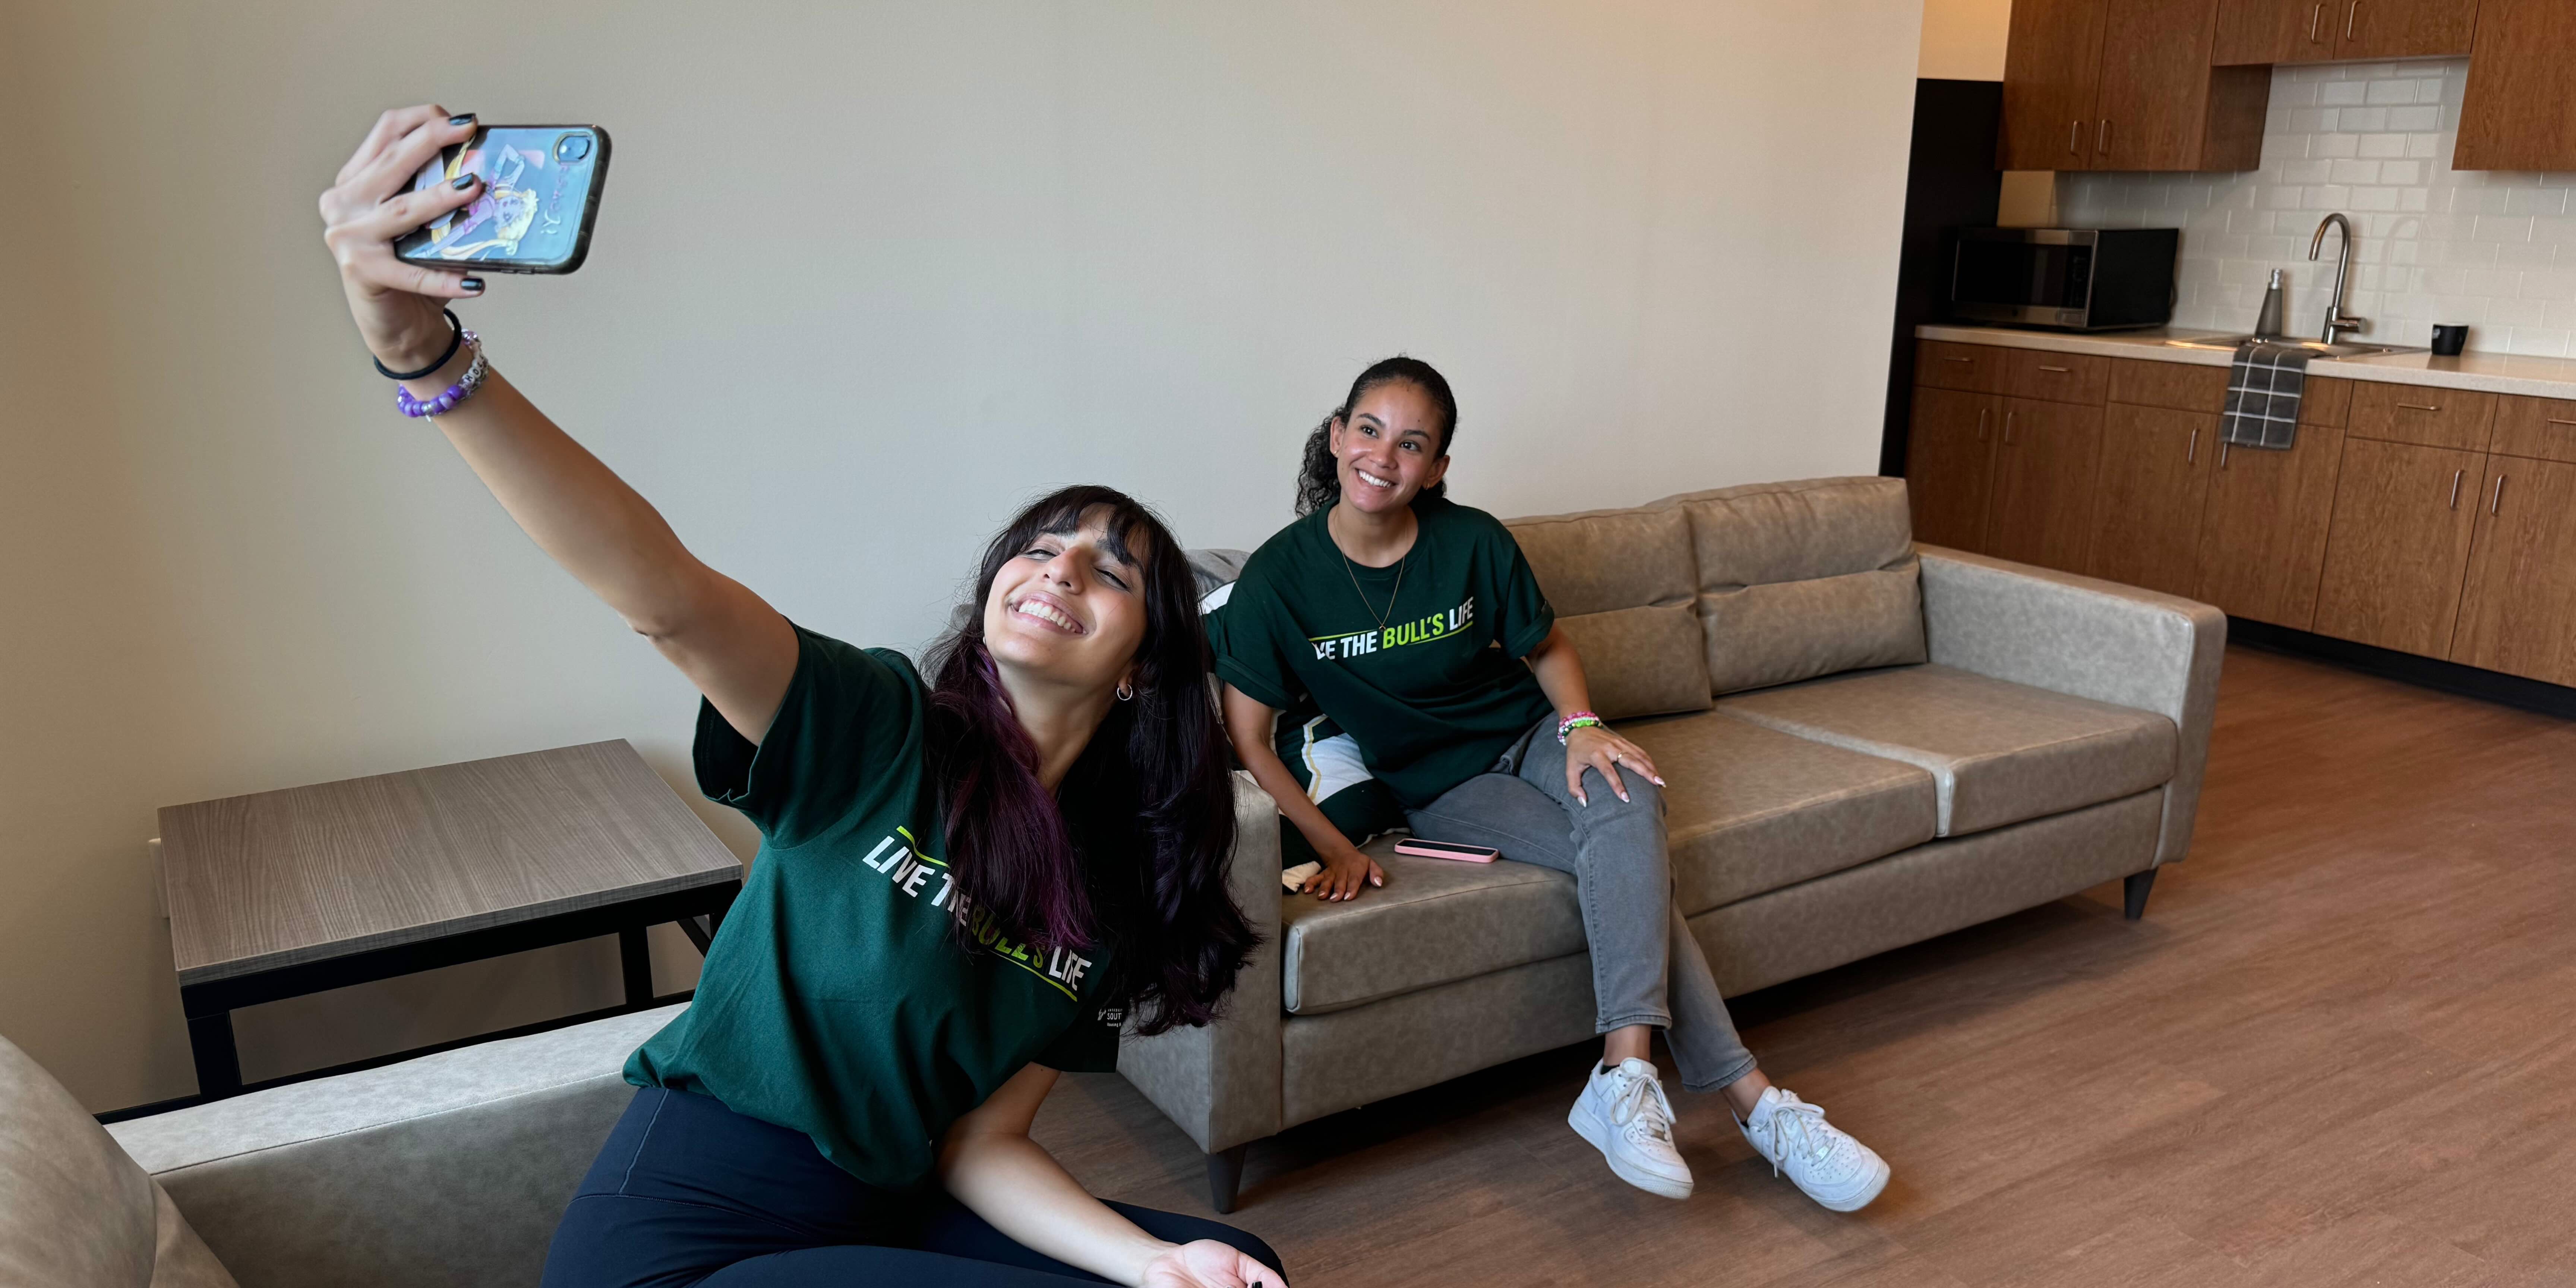
<svg viewBox="0 0 2576 1288">
<path fill-rule="evenodd" d="M 922 765 L 922 677 L 904 654 L 799 629 L 796 677 L 757 747 L 698 708 L 698 788 L 760 824 L 698 997 L 626 1082 L 804 1131 L 871 1185 L 930 1175 L 938 1139 L 1028 1064 L 1118 1066 L 1123 1005 L 1095 948 L 951 927 Z"/>
</svg>

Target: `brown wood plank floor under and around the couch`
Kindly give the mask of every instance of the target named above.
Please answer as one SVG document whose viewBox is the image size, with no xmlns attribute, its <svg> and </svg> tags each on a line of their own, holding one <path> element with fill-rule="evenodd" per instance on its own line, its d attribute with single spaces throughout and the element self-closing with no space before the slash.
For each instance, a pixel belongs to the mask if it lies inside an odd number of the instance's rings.
<svg viewBox="0 0 2576 1288">
<path fill-rule="evenodd" d="M 2231 649 L 2187 863 L 1736 999 L 1896 1170 L 1837 1216 L 1682 1097 L 1687 1203 L 1564 1126 L 1566 1048 L 1252 1146 L 1298 1288 L 2576 1283 L 2576 724 Z M 1667 1059 L 1669 1069 L 1669 1059 Z M 1206 1213 L 1118 1077 L 1041 1139 Z"/>
</svg>

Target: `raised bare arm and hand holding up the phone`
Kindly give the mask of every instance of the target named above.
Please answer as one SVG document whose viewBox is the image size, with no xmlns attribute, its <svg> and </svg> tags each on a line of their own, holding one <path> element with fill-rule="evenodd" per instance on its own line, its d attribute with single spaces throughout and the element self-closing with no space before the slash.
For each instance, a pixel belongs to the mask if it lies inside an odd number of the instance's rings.
<svg viewBox="0 0 2576 1288">
<path fill-rule="evenodd" d="M 417 371 L 448 348 L 440 309 L 482 294 L 482 278 L 394 258 L 394 237 L 466 206 L 482 185 L 412 193 L 438 149 L 474 134 L 471 116 L 440 106 L 389 111 L 322 193 L 322 242 L 358 335 L 389 371 Z M 456 384 L 474 353 L 404 381 L 428 402 Z M 482 392 L 430 417 L 538 549 L 564 564 L 626 626 L 654 641 L 742 737 L 760 742 L 796 675 L 796 631 L 742 582 L 688 554 L 636 489 L 559 430 L 500 371 Z"/>
</svg>

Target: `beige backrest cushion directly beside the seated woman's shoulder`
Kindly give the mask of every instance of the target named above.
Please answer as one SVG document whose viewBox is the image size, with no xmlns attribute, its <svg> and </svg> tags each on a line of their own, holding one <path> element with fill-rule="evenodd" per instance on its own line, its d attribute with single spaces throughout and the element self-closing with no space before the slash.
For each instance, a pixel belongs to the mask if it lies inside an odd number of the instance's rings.
<svg viewBox="0 0 2576 1288">
<path fill-rule="evenodd" d="M 1708 711 L 1708 649 L 1692 618 L 1690 520 L 1680 510 L 1587 510 L 1504 523 L 1607 719 Z"/>
</svg>

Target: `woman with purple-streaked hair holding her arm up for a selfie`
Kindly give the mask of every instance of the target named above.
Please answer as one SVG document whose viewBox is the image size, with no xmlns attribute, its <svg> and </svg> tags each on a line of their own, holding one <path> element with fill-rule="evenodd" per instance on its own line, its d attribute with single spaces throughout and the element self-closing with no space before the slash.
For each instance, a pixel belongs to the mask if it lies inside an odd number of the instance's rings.
<svg viewBox="0 0 2576 1288">
<path fill-rule="evenodd" d="M 1059 1069 L 1206 1023 L 1252 933 L 1180 546 L 1105 487 L 992 541 L 933 654 L 804 631 L 708 569 L 451 327 L 482 289 L 389 242 L 469 116 L 386 113 L 322 196 L 358 335 L 510 518 L 698 690 L 701 788 L 760 855 L 698 997 L 572 1198 L 549 1288 L 1283 1285 L 1236 1229 L 1100 1203 L 1028 1139 Z"/>
</svg>

